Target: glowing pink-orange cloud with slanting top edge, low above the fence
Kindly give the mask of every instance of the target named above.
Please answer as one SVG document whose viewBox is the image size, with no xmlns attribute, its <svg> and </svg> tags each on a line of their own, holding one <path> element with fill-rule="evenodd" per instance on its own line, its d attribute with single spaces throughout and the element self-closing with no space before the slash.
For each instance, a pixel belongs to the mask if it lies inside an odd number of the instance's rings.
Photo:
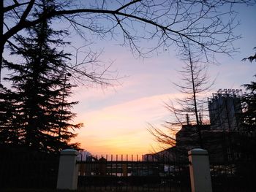
<svg viewBox="0 0 256 192">
<path fill-rule="evenodd" d="M 176 96 L 144 97 L 80 113 L 78 121 L 85 127 L 79 131 L 77 140 L 93 153 L 148 153 L 151 145 L 157 144 L 146 130 L 147 122 L 162 123 L 169 115 L 163 101 Z"/>
</svg>

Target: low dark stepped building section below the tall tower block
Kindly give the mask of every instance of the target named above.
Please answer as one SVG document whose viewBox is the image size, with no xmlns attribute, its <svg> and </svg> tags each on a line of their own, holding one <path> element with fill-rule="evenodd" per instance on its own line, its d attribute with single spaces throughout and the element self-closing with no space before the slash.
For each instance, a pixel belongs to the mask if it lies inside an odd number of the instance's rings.
<svg viewBox="0 0 256 192">
<path fill-rule="evenodd" d="M 210 161 L 232 161 L 236 153 L 229 146 L 238 144 L 238 132 L 210 130 L 210 125 L 201 125 L 203 148 L 208 150 Z M 197 128 L 195 125 L 184 125 L 176 134 L 176 146 L 169 147 L 158 153 L 143 155 L 143 161 L 188 161 L 188 151 L 200 148 Z"/>
</svg>

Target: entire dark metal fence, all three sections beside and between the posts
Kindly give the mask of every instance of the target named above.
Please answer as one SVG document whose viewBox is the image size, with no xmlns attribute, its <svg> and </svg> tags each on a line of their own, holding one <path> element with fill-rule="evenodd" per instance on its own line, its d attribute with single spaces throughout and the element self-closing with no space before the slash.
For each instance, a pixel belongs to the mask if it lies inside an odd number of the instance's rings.
<svg viewBox="0 0 256 192">
<path fill-rule="evenodd" d="M 0 191 L 3 188 L 56 188 L 59 155 L 0 148 Z M 87 157 L 77 161 L 80 191 L 191 191 L 189 162 L 138 155 Z M 214 192 L 255 191 L 252 160 L 211 162 Z"/>
</svg>

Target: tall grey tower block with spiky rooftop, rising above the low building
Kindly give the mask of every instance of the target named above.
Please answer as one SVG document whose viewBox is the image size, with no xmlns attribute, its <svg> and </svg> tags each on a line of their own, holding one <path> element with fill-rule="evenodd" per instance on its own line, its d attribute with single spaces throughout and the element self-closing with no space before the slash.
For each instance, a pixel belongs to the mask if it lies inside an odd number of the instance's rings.
<svg viewBox="0 0 256 192">
<path fill-rule="evenodd" d="M 238 89 L 219 89 L 208 98 L 211 130 L 239 130 L 238 115 L 242 112 L 242 95 Z"/>
</svg>

